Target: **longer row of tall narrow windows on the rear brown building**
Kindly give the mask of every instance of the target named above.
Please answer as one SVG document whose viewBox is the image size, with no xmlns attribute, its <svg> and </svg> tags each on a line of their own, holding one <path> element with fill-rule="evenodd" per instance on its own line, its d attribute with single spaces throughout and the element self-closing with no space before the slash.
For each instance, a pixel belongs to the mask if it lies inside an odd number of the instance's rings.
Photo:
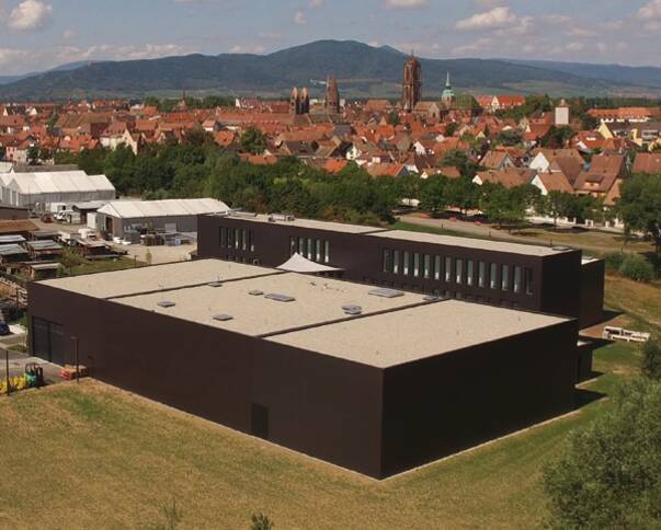
<svg viewBox="0 0 661 530">
<path fill-rule="evenodd" d="M 454 276 L 453 276 L 454 261 Z M 476 267 L 477 263 L 477 267 Z M 502 291 L 513 290 L 521 293 L 522 290 L 533 295 L 533 269 L 520 266 L 510 267 L 510 265 L 499 265 L 497 263 L 475 262 L 474 260 L 452 258 L 442 256 L 431 256 L 418 252 L 390 251 L 384 250 L 383 255 L 384 273 L 390 273 L 403 276 L 413 276 L 414 278 L 443 280 L 446 284 L 453 281 L 457 285 L 467 285 L 490 289 L 500 289 Z M 487 273 L 487 267 L 489 272 Z M 477 268 L 477 278 L 475 272 Z M 499 278 L 500 268 L 500 278 Z"/>
</svg>

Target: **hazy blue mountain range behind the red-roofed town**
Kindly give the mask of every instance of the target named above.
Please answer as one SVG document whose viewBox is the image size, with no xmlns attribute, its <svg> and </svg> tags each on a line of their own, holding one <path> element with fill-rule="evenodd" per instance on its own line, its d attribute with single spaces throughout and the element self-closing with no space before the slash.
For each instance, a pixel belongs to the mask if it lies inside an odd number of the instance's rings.
<svg viewBox="0 0 661 530">
<path fill-rule="evenodd" d="M 318 41 L 269 55 L 71 64 L 3 84 L 0 78 L 0 101 L 178 95 L 183 90 L 283 96 L 292 87 L 306 85 L 316 96 L 322 95 L 320 81 L 329 73 L 338 77 L 343 96 L 398 97 L 404 59 L 389 46 Z M 458 90 L 472 93 L 661 96 L 661 68 L 509 59 L 420 58 L 420 62 L 425 97 L 438 97 L 447 72 Z"/>
</svg>

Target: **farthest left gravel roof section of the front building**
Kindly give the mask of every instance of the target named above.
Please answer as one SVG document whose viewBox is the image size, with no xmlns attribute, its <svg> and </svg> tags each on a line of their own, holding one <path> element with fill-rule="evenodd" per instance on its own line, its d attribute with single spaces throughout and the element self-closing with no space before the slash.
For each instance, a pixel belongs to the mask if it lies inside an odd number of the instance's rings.
<svg viewBox="0 0 661 530">
<path fill-rule="evenodd" d="M 201 260 L 50 279 L 42 284 L 94 298 L 114 298 L 275 273 L 271 268 L 242 263 Z"/>
</svg>

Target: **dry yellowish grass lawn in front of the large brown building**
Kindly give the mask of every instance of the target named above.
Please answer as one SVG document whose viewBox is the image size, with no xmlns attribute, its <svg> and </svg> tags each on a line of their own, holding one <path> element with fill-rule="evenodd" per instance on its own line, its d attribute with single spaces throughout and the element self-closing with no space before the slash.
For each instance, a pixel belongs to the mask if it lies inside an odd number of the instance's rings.
<svg viewBox="0 0 661 530">
<path fill-rule="evenodd" d="M 589 389 L 638 362 L 601 349 Z M 27 391 L 0 400 L 0 528 L 149 528 L 173 498 L 182 528 L 532 528 L 544 463 L 607 406 L 378 483 L 93 381 Z"/>
</svg>

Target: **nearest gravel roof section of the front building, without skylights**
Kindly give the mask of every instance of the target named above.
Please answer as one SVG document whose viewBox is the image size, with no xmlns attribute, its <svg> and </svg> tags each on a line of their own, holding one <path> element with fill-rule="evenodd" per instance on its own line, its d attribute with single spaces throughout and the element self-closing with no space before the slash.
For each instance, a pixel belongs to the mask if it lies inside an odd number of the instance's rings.
<svg viewBox="0 0 661 530">
<path fill-rule="evenodd" d="M 559 316 L 445 300 L 269 339 L 387 368 L 566 321 Z"/>
</svg>

